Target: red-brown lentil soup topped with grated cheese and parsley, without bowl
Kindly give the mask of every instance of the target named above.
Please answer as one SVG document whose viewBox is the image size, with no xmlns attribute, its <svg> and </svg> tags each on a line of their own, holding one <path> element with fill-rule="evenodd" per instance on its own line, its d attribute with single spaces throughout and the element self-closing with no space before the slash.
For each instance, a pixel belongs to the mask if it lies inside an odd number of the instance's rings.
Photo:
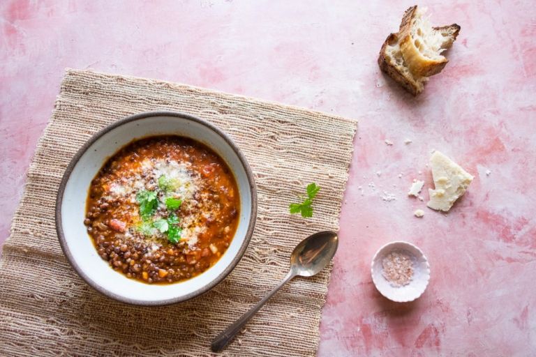
<svg viewBox="0 0 536 357">
<path fill-rule="evenodd" d="M 225 162 L 179 136 L 128 144 L 91 181 L 84 225 L 114 270 L 147 283 L 199 275 L 227 250 L 239 191 Z"/>
</svg>

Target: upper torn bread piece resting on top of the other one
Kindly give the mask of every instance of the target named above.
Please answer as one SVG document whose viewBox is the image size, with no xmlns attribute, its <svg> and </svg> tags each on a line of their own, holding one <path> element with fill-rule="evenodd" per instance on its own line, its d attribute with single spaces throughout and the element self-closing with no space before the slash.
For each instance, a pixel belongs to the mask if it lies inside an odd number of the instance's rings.
<svg viewBox="0 0 536 357">
<path fill-rule="evenodd" d="M 453 31 L 446 40 L 441 31 L 433 29 L 425 16 L 426 9 L 412 6 L 405 11 L 399 30 L 400 49 L 405 63 L 411 73 L 422 77 L 429 77 L 441 72 L 448 60 L 442 56 L 446 48 L 445 43 L 452 45 L 457 31 Z M 459 31 L 459 26 L 454 24 Z M 447 34 L 450 31 L 447 31 Z"/>
</svg>

